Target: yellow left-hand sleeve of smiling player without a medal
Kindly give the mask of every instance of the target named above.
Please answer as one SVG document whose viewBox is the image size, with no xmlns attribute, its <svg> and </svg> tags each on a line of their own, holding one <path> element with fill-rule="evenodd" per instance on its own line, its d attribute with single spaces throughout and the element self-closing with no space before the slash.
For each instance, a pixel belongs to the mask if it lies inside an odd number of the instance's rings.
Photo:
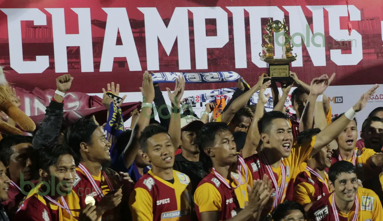
<svg viewBox="0 0 383 221">
<path fill-rule="evenodd" d="M 133 221 L 153 220 L 153 198 L 144 188 L 135 188 L 129 198 Z"/>
</svg>

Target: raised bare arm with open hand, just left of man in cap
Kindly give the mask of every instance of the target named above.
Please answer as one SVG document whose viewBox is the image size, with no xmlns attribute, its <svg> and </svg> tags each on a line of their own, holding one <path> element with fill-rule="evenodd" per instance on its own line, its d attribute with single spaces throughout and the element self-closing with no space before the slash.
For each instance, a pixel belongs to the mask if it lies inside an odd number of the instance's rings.
<svg viewBox="0 0 383 221">
<path fill-rule="evenodd" d="M 175 88 L 173 93 L 170 92 L 169 88 L 166 88 L 170 102 L 172 102 L 172 115 L 170 116 L 170 124 L 168 133 L 172 139 L 173 146 L 175 149 L 181 145 L 181 98 L 183 91 L 185 90 L 185 78 L 178 76 L 175 80 Z"/>
</svg>

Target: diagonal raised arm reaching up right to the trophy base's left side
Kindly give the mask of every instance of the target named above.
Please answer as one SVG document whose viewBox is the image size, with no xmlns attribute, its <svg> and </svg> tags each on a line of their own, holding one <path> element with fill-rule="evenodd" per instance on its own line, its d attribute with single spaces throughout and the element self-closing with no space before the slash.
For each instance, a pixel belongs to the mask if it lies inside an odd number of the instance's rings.
<svg viewBox="0 0 383 221">
<path fill-rule="evenodd" d="M 250 100 L 251 96 L 260 89 L 264 79 L 266 78 L 270 77 L 264 77 L 263 75 L 261 75 L 257 84 L 255 84 L 252 88 L 250 88 L 250 90 L 248 90 L 247 92 L 239 96 L 236 100 L 234 100 L 229 106 L 228 110 L 222 113 L 221 122 L 230 123 L 237 111 L 239 111 L 239 109 L 242 106 L 246 105 L 247 101 Z"/>
</svg>

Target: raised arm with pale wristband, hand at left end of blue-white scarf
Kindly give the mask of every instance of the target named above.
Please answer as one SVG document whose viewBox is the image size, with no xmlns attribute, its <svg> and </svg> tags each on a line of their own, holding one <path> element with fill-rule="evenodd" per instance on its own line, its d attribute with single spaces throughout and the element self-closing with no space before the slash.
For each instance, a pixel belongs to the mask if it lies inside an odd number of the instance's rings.
<svg viewBox="0 0 383 221">
<path fill-rule="evenodd" d="M 142 87 L 140 87 L 142 97 L 146 103 L 142 104 L 141 113 L 138 116 L 136 126 L 134 126 L 132 133 L 131 141 L 126 145 L 123 154 L 126 168 L 129 168 L 136 158 L 137 152 L 140 149 L 140 144 L 138 139 L 141 135 L 141 132 L 149 125 L 149 121 L 152 113 L 153 99 L 154 99 L 154 87 L 152 75 L 149 72 L 145 71 L 142 79 Z M 153 116 L 154 117 L 154 116 Z"/>
</svg>

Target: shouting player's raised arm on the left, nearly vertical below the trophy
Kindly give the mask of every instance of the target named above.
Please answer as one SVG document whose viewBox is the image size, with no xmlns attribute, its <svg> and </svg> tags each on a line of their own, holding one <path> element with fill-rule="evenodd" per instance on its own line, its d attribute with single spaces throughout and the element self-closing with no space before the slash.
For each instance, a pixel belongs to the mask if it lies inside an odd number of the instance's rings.
<svg viewBox="0 0 383 221">
<path fill-rule="evenodd" d="M 265 90 L 266 88 L 271 84 L 270 80 L 265 82 L 261 89 L 259 90 L 258 94 L 258 103 L 255 107 L 255 114 L 253 117 L 253 120 L 251 121 L 249 131 L 247 132 L 245 145 L 242 149 L 242 156 L 244 158 L 249 157 L 255 153 L 257 150 L 259 141 L 260 141 L 260 134 L 258 130 L 258 121 L 260 118 L 262 118 L 264 114 L 264 107 L 265 104 L 268 102 L 268 98 L 270 97 L 270 94 L 268 93 L 265 97 Z"/>
</svg>

